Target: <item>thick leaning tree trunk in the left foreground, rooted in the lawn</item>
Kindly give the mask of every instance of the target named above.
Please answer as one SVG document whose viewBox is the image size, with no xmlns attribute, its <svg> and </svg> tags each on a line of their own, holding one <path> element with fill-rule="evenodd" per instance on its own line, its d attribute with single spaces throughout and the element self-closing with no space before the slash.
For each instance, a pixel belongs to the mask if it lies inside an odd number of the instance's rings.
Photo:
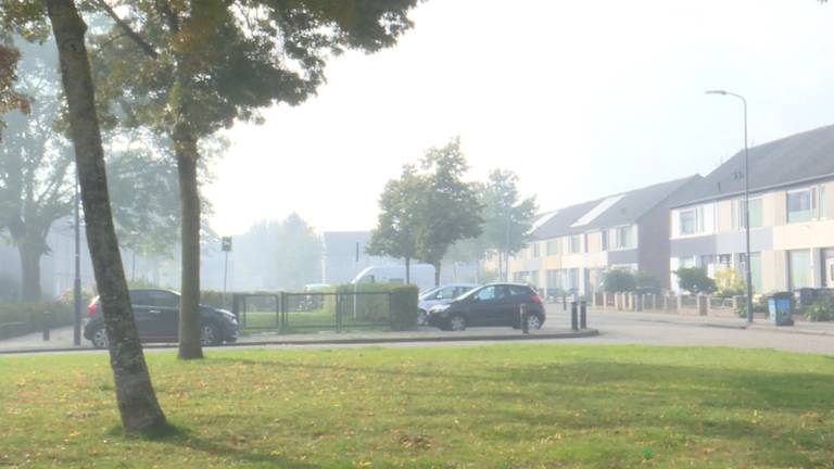
<svg viewBox="0 0 834 469">
<path fill-rule="evenodd" d="M 110 365 L 122 424 L 131 432 L 159 431 L 167 423 L 153 392 L 139 343 L 113 227 L 104 150 L 96 115 L 90 62 L 84 42 L 87 25 L 78 15 L 73 0 L 47 0 L 47 10 L 58 43 L 87 223 L 87 243 L 110 339 Z"/>
</svg>

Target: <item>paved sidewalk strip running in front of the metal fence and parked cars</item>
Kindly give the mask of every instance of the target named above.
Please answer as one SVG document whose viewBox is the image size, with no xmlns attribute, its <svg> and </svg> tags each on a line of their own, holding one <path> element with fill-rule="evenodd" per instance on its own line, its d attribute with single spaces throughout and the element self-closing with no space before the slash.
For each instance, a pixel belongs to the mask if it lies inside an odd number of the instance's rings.
<svg viewBox="0 0 834 469">
<path fill-rule="evenodd" d="M 261 332 L 242 335 L 237 343 L 225 346 L 245 345 L 324 345 L 324 344 L 375 344 L 403 342 L 464 342 L 464 341 L 519 341 L 543 339 L 576 339 L 596 335 L 595 329 L 571 331 L 567 328 L 544 328 L 522 334 L 511 328 L 470 328 L 463 332 L 447 332 L 434 328 L 420 328 L 417 331 L 324 331 L 306 334 L 279 334 Z M 80 346 L 73 345 L 73 328 L 53 329 L 50 341 L 43 341 L 41 333 L 22 335 L 0 341 L 0 354 L 31 352 L 70 352 L 94 350 L 89 341 L 83 340 Z M 143 344 L 144 348 L 168 348 L 176 344 Z"/>
</svg>

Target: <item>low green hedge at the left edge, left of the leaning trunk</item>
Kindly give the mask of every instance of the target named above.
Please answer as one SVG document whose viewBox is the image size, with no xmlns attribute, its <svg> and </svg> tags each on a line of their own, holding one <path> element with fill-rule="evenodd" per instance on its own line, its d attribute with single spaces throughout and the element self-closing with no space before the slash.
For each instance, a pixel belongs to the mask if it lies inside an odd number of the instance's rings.
<svg viewBox="0 0 834 469">
<path fill-rule="evenodd" d="M 52 314 L 52 328 L 72 326 L 75 308 L 72 302 L 10 302 L 0 303 L 0 324 L 21 322 L 16 327 L 0 329 L 0 339 L 38 332 L 43 329 L 43 313 Z M 84 314 L 84 312 L 81 312 Z"/>
</svg>

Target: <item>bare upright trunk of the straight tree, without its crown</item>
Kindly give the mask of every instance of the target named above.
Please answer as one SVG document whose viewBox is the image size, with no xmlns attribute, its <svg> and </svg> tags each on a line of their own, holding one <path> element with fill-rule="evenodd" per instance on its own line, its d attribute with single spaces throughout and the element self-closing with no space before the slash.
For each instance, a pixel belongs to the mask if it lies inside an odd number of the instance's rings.
<svg viewBox="0 0 834 469">
<path fill-rule="evenodd" d="M 179 173 L 182 277 L 179 304 L 179 358 L 203 357 L 200 344 L 200 190 L 197 183 L 197 139 L 185 121 L 174 129 L 174 152 Z"/>
</svg>

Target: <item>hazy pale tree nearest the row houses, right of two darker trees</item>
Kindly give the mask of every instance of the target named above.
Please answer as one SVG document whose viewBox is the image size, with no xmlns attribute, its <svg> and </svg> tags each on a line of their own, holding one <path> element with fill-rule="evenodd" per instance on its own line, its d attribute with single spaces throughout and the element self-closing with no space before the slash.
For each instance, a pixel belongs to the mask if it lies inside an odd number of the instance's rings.
<svg viewBox="0 0 834 469">
<path fill-rule="evenodd" d="M 486 183 L 480 187 L 479 200 L 483 205 L 481 244 L 498 253 L 498 264 L 507 272 L 509 256 L 530 241 L 530 229 L 539 210 L 535 197 L 521 199 L 518 176 L 507 169 L 493 169 Z"/>
</svg>

